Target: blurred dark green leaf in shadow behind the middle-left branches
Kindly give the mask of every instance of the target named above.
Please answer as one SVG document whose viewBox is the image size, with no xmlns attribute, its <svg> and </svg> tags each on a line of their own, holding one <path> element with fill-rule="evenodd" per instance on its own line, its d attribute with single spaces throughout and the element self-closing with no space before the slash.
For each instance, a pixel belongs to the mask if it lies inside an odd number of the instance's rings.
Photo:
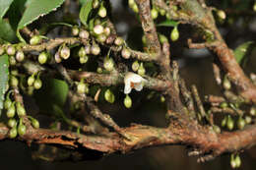
<svg viewBox="0 0 256 170">
<path fill-rule="evenodd" d="M 63 107 L 68 95 L 68 85 L 57 79 L 42 80 L 42 83 L 42 88 L 35 92 L 35 100 L 40 110 L 49 111 L 53 104 Z"/>
</svg>

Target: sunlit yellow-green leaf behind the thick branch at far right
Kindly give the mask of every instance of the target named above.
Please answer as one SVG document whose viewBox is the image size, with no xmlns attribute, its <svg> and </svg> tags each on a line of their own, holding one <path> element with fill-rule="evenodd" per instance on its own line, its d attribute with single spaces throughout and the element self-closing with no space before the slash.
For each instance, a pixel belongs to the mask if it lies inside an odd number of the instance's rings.
<svg viewBox="0 0 256 170">
<path fill-rule="evenodd" d="M 253 41 L 248 41 L 235 48 L 234 57 L 238 64 L 241 64 L 242 61 L 245 60 L 246 56 L 250 53 L 253 45 Z"/>
</svg>

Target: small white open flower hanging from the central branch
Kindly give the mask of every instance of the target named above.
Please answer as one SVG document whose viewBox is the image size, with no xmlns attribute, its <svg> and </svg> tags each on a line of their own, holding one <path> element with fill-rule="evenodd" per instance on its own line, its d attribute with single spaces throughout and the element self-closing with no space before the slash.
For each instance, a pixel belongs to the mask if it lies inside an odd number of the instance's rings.
<svg viewBox="0 0 256 170">
<path fill-rule="evenodd" d="M 124 93 L 130 93 L 132 88 L 135 88 L 137 91 L 140 91 L 142 90 L 143 85 L 147 82 L 148 81 L 143 79 L 140 75 L 137 75 L 132 72 L 127 72 L 124 77 Z"/>
</svg>

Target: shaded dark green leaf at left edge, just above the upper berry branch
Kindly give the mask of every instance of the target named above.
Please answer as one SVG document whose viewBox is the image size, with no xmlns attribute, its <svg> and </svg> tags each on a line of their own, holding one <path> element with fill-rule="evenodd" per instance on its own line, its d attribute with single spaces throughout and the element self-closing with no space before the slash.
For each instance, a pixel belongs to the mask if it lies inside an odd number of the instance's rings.
<svg viewBox="0 0 256 170">
<path fill-rule="evenodd" d="M 0 38 L 8 42 L 14 42 L 17 39 L 15 31 L 6 20 L 0 20 Z"/>
</svg>

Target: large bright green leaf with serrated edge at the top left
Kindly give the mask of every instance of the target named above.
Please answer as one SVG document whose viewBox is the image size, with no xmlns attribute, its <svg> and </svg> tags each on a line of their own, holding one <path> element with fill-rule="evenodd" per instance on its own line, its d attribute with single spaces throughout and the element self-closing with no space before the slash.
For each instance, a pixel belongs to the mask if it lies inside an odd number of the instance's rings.
<svg viewBox="0 0 256 170">
<path fill-rule="evenodd" d="M 28 4 L 28 8 L 18 25 L 18 29 L 24 28 L 39 17 L 56 10 L 64 1 L 65 0 L 32 0 Z"/>
</svg>

